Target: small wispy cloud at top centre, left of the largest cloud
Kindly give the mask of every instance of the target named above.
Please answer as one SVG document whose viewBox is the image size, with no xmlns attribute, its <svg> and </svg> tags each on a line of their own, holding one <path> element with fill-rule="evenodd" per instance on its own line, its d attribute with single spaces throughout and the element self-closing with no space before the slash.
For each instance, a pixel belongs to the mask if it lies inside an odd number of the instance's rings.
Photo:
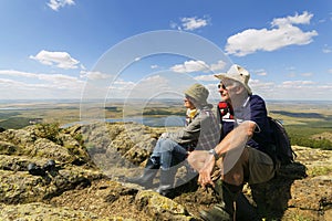
<svg viewBox="0 0 332 221">
<path fill-rule="evenodd" d="M 197 17 L 188 17 L 188 18 L 181 18 L 180 24 L 177 24 L 176 22 L 172 22 L 170 28 L 185 30 L 185 31 L 194 31 L 197 29 L 201 29 L 208 24 L 209 24 L 208 18 L 199 19 Z"/>
</svg>

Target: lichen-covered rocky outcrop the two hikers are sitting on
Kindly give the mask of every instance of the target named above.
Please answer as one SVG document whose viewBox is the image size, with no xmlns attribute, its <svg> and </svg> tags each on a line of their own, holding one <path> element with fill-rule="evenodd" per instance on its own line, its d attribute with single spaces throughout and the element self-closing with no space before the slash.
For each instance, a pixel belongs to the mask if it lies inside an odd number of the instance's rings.
<svg viewBox="0 0 332 221">
<path fill-rule="evenodd" d="M 133 123 L 59 128 L 33 125 L 0 133 L 0 220 L 195 220 L 215 202 L 210 190 L 177 173 L 177 194 L 164 198 L 123 182 L 142 172 L 166 129 Z M 293 147 L 295 164 L 268 183 L 247 186 L 246 196 L 266 220 L 329 220 L 332 217 L 332 151 Z M 55 168 L 40 176 L 54 159 Z"/>
</svg>

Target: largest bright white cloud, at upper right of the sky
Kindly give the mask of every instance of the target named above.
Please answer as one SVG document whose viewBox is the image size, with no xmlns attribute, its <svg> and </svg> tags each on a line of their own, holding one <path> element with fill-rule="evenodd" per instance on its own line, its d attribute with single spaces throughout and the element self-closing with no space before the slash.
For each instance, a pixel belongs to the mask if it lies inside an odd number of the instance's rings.
<svg viewBox="0 0 332 221">
<path fill-rule="evenodd" d="M 317 31 L 303 32 L 293 24 L 309 24 L 313 14 L 304 11 L 294 17 L 279 18 L 271 22 L 274 29 L 248 29 L 227 40 L 225 51 L 228 54 L 245 56 L 256 51 L 274 51 L 288 45 L 311 43 Z"/>
</svg>

